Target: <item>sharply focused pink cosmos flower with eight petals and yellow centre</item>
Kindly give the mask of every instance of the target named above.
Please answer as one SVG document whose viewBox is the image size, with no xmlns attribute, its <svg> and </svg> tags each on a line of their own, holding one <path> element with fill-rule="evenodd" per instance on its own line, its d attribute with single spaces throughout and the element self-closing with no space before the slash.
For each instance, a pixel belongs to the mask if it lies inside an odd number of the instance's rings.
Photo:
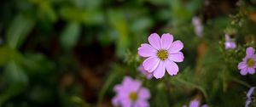
<svg viewBox="0 0 256 107">
<path fill-rule="evenodd" d="M 183 42 L 173 42 L 173 37 L 165 33 L 162 37 L 153 33 L 148 37 L 148 43 L 143 43 L 138 48 L 138 54 L 145 57 L 143 67 L 148 72 L 153 72 L 155 78 L 161 78 L 165 75 L 166 70 L 169 75 L 177 75 L 178 66 L 174 62 L 183 62 Z"/>
</svg>

